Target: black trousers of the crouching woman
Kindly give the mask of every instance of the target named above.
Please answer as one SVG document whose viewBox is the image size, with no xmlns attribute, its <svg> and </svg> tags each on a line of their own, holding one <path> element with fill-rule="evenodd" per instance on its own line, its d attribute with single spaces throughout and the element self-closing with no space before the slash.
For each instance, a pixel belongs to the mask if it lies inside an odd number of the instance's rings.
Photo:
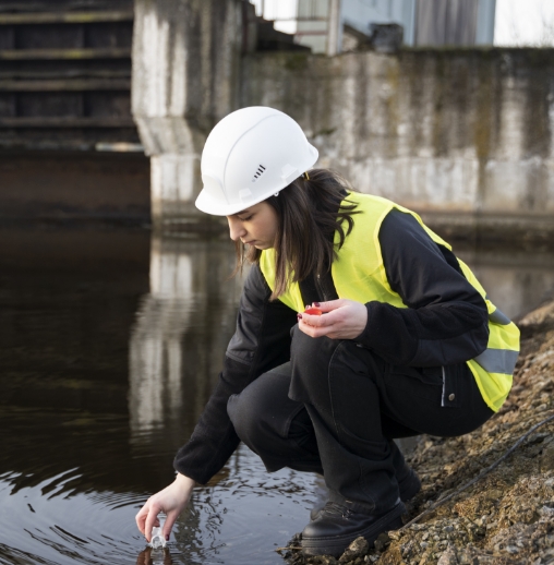
<svg viewBox="0 0 554 565">
<path fill-rule="evenodd" d="M 314 339 L 298 326 L 290 362 L 231 396 L 227 411 L 268 471 L 323 473 L 332 500 L 375 514 L 397 503 L 409 472 L 393 438 L 462 435 L 494 413 L 466 363 L 395 366 L 351 340 Z"/>
</svg>

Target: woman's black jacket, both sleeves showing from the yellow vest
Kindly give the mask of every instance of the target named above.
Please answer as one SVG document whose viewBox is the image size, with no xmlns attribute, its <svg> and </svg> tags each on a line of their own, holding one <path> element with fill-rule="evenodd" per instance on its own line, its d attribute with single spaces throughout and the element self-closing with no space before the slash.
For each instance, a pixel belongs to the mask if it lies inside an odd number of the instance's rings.
<svg viewBox="0 0 554 565">
<path fill-rule="evenodd" d="M 369 302 L 368 325 L 356 341 L 389 363 L 410 366 L 460 363 L 484 351 L 486 305 L 462 275 L 456 256 L 436 244 L 413 216 L 397 209 L 384 219 L 380 242 L 388 282 L 408 308 Z M 310 287 L 305 289 L 301 286 L 308 304 L 314 296 Z M 244 284 L 237 330 L 227 348 L 219 384 L 174 459 L 176 470 L 198 483 L 219 471 L 239 445 L 227 416 L 229 396 L 289 360 L 297 312 L 278 300 L 269 302 L 270 293 L 254 265 Z"/>
</svg>

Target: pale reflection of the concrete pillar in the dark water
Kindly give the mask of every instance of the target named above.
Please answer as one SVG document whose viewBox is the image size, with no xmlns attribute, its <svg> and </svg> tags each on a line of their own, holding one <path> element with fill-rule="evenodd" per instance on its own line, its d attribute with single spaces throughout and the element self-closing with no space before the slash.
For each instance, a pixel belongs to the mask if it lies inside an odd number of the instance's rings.
<svg viewBox="0 0 554 565">
<path fill-rule="evenodd" d="M 130 346 L 129 412 L 137 447 L 159 452 L 192 432 L 234 328 L 241 280 L 229 279 L 232 269 L 227 241 L 153 238 L 150 292 Z"/>
</svg>

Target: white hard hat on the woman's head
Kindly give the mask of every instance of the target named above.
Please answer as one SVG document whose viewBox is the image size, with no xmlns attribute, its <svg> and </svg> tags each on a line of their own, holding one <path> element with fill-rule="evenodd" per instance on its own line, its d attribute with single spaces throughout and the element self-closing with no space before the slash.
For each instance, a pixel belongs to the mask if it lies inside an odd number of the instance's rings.
<svg viewBox="0 0 554 565">
<path fill-rule="evenodd" d="M 298 179 L 317 160 L 300 125 L 274 108 L 253 106 L 225 117 L 202 152 L 204 188 L 196 207 L 230 216 Z"/>
</svg>

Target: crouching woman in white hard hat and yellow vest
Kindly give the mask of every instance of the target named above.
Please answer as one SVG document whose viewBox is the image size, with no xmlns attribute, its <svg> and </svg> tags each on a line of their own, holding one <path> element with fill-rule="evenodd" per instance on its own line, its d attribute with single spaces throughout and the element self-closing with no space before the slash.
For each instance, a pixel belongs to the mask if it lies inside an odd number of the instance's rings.
<svg viewBox="0 0 554 565">
<path fill-rule="evenodd" d="M 206 141 L 196 206 L 227 216 L 238 268 L 253 266 L 176 481 L 136 516 L 148 540 L 159 512 L 169 539 L 194 484 L 242 441 L 268 471 L 324 476 L 305 554 L 372 543 L 420 489 L 393 438 L 468 433 L 509 392 L 519 334 L 471 271 L 416 214 L 310 170 L 316 159 L 272 108 L 238 110 Z"/>
</svg>

